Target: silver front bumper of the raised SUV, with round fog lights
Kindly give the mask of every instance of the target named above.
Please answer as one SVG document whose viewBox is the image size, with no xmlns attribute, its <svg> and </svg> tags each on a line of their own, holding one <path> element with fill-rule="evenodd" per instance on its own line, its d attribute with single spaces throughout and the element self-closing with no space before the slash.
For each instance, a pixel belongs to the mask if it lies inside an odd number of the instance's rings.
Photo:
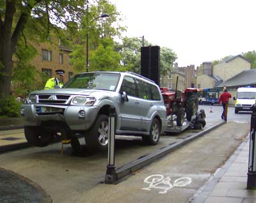
<svg viewBox="0 0 256 203">
<path fill-rule="evenodd" d="M 63 109 L 63 112 L 41 113 L 38 112 L 38 107 L 52 107 Z M 95 121 L 95 118 L 99 112 L 99 107 L 95 106 L 75 106 L 75 105 L 22 105 L 24 109 L 25 125 L 26 126 L 41 126 L 42 123 L 49 123 L 52 121 L 59 123 L 65 123 L 70 130 L 88 130 Z M 79 111 L 85 112 L 84 116 L 79 114 Z M 54 128 L 54 126 L 52 126 Z"/>
</svg>

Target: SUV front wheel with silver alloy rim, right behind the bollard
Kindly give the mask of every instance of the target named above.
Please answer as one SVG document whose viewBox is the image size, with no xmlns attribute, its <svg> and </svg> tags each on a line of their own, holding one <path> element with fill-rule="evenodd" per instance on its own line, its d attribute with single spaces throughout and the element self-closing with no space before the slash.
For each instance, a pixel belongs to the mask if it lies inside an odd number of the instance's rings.
<svg viewBox="0 0 256 203">
<path fill-rule="evenodd" d="M 108 149 L 108 116 L 99 114 L 92 128 L 85 135 L 85 142 L 88 151 L 99 149 L 105 151 Z"/>
</svg>

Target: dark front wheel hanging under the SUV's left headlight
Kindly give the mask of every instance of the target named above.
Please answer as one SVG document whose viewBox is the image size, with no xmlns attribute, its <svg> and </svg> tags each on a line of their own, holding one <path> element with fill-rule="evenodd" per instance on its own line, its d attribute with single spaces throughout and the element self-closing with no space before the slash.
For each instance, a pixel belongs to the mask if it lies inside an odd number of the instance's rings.
<svg viewBox="0 0 256 203">
<path fill-rule="evenodd" d="M 45 147 L 53 140 L 53 133 L 44 132 L 39 127 L 25 126 L 24 133 L 28 143 L 36 147 Z"/>
</svg>

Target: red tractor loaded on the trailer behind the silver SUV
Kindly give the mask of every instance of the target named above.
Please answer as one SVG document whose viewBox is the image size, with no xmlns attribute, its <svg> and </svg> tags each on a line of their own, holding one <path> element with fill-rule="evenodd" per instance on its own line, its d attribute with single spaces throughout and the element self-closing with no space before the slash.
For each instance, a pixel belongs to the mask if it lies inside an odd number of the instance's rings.
<svg viewBox="0 0 256 203">
<path fill-rule="evenodd" d="M 187 88 L 184 92 L 177 88 L 175 91 L 168 91 L 166 87 L 160 89 L 168 121 L 166 132 L 181 132 L 189 126 L 204 128 L 205 112 L 204 109 L 198 111 L 198 89 Z"/>
</svg>

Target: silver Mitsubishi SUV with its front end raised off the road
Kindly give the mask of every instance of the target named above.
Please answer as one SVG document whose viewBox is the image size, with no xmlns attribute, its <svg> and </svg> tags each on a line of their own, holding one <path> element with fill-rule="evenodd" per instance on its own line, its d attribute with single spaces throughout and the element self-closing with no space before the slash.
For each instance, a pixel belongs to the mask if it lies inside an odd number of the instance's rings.
<svg viewBox="0 0 256 203">
<path fill-rule="evenodd" d="M 116 110 L 116 134 L 140 135 L 155 145 L 166 128 L 159 87 L 131 72 L 89 72 L 72 77 L 61 89 L 33 91 L 22 105 L 29 144 L 47 146 L 54 135 L 77 149 L 84 135 L 89 150 L 108 148 L 109 107 Z M 79 143 L 79 142 L 78 142 Z"/>
</svg>

